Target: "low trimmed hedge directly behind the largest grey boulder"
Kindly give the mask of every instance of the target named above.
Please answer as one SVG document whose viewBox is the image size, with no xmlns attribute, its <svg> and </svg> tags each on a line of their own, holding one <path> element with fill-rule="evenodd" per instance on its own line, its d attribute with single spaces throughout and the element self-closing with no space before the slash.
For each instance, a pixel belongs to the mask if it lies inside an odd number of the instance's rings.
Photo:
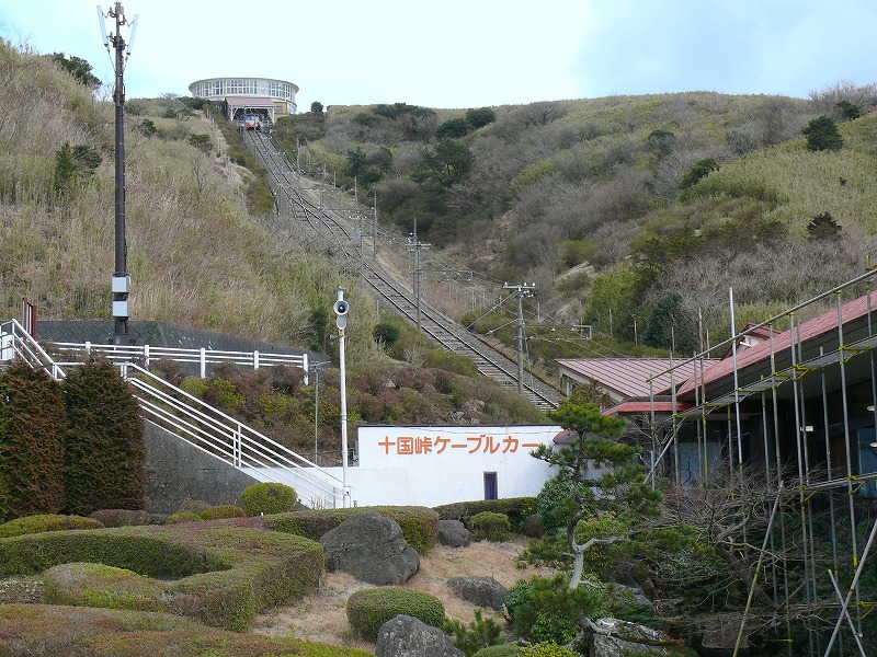
<svg viewBox="0 0 877 657">
<path fill-rule="evenodd" d="M 367 506 L 345 509 L 318 509 L 266 516 L 267 527 L 319 541 L 327 531 L 362 511 L 377 511 L 402 528 L 406 541 L 419 554 L 426 554 L 438 542 L 438 515 L 426 507 Z"/>
</svg>

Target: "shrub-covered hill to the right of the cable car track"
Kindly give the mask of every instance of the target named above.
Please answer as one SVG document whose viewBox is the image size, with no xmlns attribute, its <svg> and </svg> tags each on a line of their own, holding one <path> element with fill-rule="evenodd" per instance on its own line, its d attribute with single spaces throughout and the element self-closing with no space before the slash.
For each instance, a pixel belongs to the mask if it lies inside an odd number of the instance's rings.
<svg viewBox="0 0 877 657">
<path fill-rule="evenodd" d="M 764 319 L 861 270 L 875 230 L 875 84 L 807 100 L 395 103 L 291 117 L 278 136 L 375 189 L 400 230 L 417 218 L 419 237 L 463 265 L 494 281 L 535 281 L 542 313 L 687 350 L 698 310 L 713 338 L 727 334 L 729 287 L 741 290 L 740 316 Z M 840 127 L 840 150 L 808 149 L 802 130 L 820 116 Z M 808 232 L 825 212 L 841 230 Z M 504 339 L 514 344 L 514 332 Z M 547 358 L 559 342 L 534 346 L 531 357 Z"/>
</svg>

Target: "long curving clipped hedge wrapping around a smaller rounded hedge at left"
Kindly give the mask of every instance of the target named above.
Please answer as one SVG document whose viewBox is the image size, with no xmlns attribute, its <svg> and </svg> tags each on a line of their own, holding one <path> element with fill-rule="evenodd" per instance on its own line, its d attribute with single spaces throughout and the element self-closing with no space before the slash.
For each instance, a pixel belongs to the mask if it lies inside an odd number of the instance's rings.
<svg viewBox="0 0 877 657">
<path fill-rule="evenodd" d="M 323 551 L 303 537 L 207 522 L 0 539 L 0 576 L 73 562 L 171 579 L 162 611 L 246 632 L 259 611 L 316 590 Z"/>
</svg>

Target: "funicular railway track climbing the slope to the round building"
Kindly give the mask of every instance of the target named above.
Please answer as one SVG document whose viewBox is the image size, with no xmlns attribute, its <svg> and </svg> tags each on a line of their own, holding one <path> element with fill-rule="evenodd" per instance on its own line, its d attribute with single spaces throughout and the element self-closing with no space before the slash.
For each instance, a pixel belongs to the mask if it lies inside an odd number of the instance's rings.
<svg viewBox="0 0 877 657">
<path fill-rule="evenodd" d="M 270 137 L 250 131 L 247 139 L 257 158 L 269 172 L 269 182 L 277 200 L 281 226 L 293 239 L 307 239 L 331 252 L 340 250 L 343 264 L 358 272 L 365 286 L 394 314 L 413 325 L 443 347 L 472 360 L 478 371 L 503 387 L 517 389 L 517 365 L 466 331 L 443 312 L 423 302 L 420 310 L 414 295 L 375 258 L 363 256 L 362 231 L 341 209 L 327 209 L 304 189 L 300 172 L 285 158 Z M 418 316 L 419 315 L 419 316 Z M 419 321 L 418 321 L 419 320 Z M 550 385 L 532 379 L 524 381 L 524 395 L 542 410 L 556 408 L 561 395 Z"/>
</svg>

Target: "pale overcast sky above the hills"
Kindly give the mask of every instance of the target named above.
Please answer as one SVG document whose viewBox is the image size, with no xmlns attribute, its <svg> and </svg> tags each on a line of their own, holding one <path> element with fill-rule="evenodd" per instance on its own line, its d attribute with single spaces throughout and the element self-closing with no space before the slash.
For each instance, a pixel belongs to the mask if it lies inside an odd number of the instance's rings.
<svg viewBox="0 0 877 657">
<path fill-rule="evenodd" d="M 0 35 L 112 82 L 96 3 L 4 0 Z M 106 12 L 111 3 L 103 0 Z M 213 77 L 300 89 L 299 111 L 480 107 L 679 91 L 806 97 L 877 82 L 877 0 L 129 0 L 127 97 Z M 107 30 L 114 27 L 107 19 Z M 129 30 L 123 37 L 129 41 Z"/>
</svg>

